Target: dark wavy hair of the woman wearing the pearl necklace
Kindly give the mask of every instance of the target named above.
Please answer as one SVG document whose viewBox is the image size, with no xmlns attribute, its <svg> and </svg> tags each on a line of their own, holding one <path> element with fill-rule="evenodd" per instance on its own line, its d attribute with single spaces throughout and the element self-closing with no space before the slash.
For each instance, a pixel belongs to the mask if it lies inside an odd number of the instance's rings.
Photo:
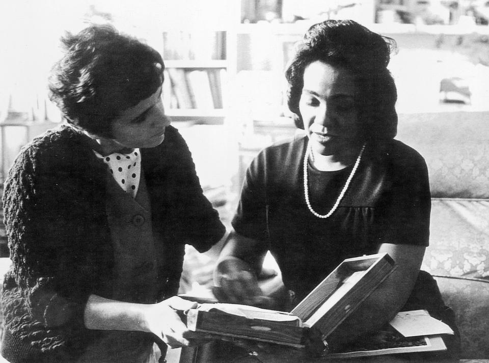
<svg viewBox="0 0 489 363">
<path fill-rule="evenodd" d="M 289 63 L 287 105 L 295 125 L 304 128 L 299 100 L 304 70 L 315 61 L 343 67 L 356 80 L 356 106 L 368 139 L 392 138 L 397 133 L 397 90 L 387 65 L 396 48 L 393 39 L 371 32 L 352 20 L 326 20 L 312 25 Z"/>
</svg>

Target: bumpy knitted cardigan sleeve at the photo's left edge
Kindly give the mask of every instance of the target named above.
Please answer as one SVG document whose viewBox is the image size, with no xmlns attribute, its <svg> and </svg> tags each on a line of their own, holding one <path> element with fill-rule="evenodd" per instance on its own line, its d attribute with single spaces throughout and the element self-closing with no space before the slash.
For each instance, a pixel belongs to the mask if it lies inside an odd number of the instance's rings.
<svg viewBox="0 0 489 363">
<path fill-rule="evenodd" d="M 66 209 L 73 205 L 57 199 L 66 196 L 58 193 L 60 183 L 50 182 L 51 173 L 37 170 L 33 158 L 32 150 L 21 152 L 5 183 L 4 221 L 13 262 L 10 283 L 15 281 L 24 299 L 21 304 L 44 326 L 81 328 L 88 284 L 75 283 L 75 276 L 83 280 L 85 274 L 73 270 L 73 256 L 63 241 L 76 231 L 60 218 L 61 204 Z"/>
</svg>

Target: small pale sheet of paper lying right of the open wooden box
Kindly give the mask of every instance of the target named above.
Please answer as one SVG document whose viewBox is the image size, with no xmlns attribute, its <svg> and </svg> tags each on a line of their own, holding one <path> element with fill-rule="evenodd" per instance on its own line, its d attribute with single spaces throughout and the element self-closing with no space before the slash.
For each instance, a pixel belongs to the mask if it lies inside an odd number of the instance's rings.
<svg viewBox="0 0 489 363">
<path fill-rule="evenodd" d="M 447 324 L 431 317 L 426 310 L 399 312 L 390 324 L 404 337 L 453 334 Z"/>
</svg>

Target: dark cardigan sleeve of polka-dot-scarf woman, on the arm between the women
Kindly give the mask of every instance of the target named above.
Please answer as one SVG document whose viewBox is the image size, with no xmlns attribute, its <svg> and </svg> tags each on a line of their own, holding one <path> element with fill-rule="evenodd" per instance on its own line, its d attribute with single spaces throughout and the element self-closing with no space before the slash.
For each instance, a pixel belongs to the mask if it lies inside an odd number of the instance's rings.
<svg viewBox="0 0 489 363">
<path fill-rule="evenodd" d="M 224 236 L 226 228 L 219 213 L 204 196 L 191 152 L 183 137 L 173 127 L 167 128 L 167 133 L 169 143 L 163 152 L 164 157 L 172 158 L 171 170 L 175 179 L 170 184 L 174 190 L 170 192 L 174 194 L 172 199 L 179 209 L 179 233 L 185 243 L 199 252 L 205 252 Z"/>
</svg>

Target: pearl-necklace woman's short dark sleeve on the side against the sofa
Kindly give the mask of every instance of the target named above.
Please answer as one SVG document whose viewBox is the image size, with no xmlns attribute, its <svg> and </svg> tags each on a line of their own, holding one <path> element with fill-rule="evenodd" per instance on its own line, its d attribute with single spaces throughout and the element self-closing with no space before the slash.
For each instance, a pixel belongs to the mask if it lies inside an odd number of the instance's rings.
<svg viewBox="0 0 489 363">
<path fill-rule="evenodd" d="M 427 246 L 431 196 L 426 163 L 407 147 L 395 148 L 388 159 L 387 190 L 375 212 L 376 239 Z"/>
</svg>

